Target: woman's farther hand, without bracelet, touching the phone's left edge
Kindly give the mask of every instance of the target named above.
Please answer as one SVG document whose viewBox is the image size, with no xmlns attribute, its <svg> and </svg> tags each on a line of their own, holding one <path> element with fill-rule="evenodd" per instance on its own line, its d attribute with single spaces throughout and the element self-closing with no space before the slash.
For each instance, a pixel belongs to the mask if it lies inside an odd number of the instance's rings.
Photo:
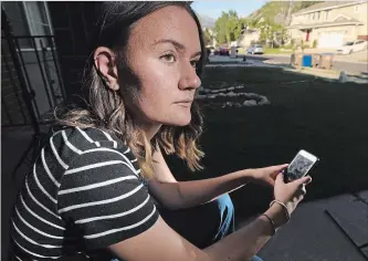
<svg viewBox="0 0 368 261">
<path fill-rule="evenodd" d="M 255 184 L 274 186 L 277 175 L 285 169 L 288 164 L 270 166 L 265 168 L 254 168 L 251 170 L 251 180 Z"/>
</svg>

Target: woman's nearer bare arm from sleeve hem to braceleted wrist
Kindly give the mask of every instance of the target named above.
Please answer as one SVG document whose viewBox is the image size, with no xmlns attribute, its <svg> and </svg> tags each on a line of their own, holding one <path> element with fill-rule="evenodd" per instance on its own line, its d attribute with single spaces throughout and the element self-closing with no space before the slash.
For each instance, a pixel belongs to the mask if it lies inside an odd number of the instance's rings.
<svg viewBox="0 0 368 261">
<path fill-rule="evenodd" d="M 273 205 L 266 213 L 276 226 L 286 221 L 278 205 Z M 250 260 L 266 243 L 272 231 L 267 218 L 261 216 L 246 227 L 200 250 L 159 218 L 147 231 L 109 246 L 109 249 L 127 261 L 243 261 Z"/>
</svg>

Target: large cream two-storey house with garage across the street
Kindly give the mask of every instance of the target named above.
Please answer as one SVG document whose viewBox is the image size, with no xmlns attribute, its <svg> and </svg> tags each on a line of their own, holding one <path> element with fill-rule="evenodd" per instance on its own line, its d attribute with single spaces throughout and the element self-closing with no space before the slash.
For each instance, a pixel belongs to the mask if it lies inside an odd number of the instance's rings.
<svg viewBox="0 0 368 261">
<path fill-rule="evenodd" d="M 326 1 L 292 14 L 287 27 L 293 40 L 318 48 L 337 48 L 344 42 L 368 40 L 368 0 Z"/>
</svg>

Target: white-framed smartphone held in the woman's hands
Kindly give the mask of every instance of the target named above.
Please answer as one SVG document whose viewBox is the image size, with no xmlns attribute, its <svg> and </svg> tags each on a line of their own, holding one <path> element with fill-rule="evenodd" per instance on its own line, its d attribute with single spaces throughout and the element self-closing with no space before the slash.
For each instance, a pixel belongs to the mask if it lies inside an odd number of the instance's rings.
<svg viewBox="0 0 368 261">
<path fill-rule="evenodd" d="M 303 178 L 319 159 L 313 154 L 301 149 L 284 170 L 285 182 Z"/>
</svg>

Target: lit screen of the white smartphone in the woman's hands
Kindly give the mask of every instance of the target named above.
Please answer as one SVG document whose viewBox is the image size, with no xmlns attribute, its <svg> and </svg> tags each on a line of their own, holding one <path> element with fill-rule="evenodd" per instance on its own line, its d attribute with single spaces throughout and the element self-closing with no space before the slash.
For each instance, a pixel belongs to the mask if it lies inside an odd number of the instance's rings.
<svg viewBox="0 0 368 261">
<path fill-rule="evenodd" d="M 304 177 L 315 163 L 316 160 L 312 160 L 301 153 L 297 154 L 286 169 L 286 181 L 293 181 Z"/>
</svg>

